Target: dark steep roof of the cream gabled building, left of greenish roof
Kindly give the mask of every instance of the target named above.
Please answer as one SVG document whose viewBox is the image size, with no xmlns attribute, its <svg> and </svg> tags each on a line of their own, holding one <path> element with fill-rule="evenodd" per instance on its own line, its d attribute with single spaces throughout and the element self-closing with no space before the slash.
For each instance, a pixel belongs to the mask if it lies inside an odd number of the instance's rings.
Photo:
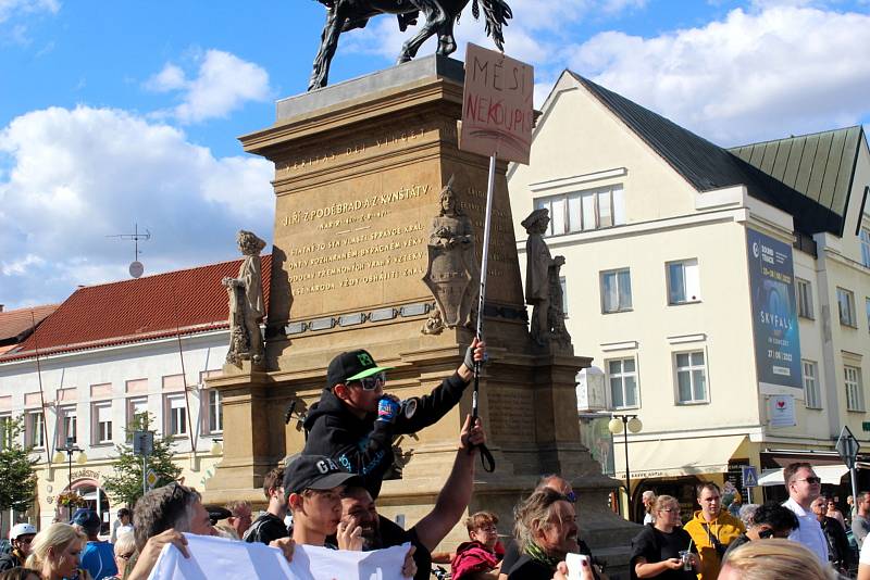
<svg viewBox="0 0 870 580">
<path fill-rule="evenodd" d="M 841 235 L 843 218 L 703 137 L 569 71 L 581 85 L 637 134 L 698 191 L 745 185 L 748 193 L 794 216 L 806 234 Z"/>
</svg>

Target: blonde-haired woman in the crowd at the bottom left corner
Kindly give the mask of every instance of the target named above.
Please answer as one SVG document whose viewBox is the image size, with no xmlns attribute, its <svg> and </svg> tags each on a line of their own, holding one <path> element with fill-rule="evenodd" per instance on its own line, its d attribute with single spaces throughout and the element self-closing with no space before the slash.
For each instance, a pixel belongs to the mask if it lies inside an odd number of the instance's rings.
<svg viewBox="0 0 870 580">
<path fill-rule="evenodd" d="M 38 570 L 42 580 L 92 580 L 78 568 L 78 558 L 87 537 L 69 524 L 52 524 L 34 538 L 27 568 Z"/>
</svg>

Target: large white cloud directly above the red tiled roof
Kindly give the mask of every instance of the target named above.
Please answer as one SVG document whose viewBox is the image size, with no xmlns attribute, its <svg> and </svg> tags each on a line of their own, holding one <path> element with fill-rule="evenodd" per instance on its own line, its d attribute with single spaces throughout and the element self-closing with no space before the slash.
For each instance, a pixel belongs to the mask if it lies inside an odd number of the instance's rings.
<svg viewBox="0 0 870 580">
<path fill-rule="evenodd" d="M 240 228 L 271 236 L 270 162 L 215 157 L 123 111 L 16 117 L 0 129 L 0 302 L 10 307 L 126 278 L 133 245 L 107 236 L 134 223 L 152 235 L 139 244 L 146 273 L 233 259 Z"/>
</svg>

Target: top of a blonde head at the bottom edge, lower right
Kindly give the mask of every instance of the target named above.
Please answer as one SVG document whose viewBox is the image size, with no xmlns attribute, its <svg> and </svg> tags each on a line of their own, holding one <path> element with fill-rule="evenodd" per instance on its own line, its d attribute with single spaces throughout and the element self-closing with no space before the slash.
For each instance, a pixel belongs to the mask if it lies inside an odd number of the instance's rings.
<svg viewBox="0 0 870 580">
<path fill-rule="evenodd" d="M 835 580 L 837 573 L 823 567 L 819 558 L 803 544 L 771 538 L 748 542 L 729 552 L 722 563 L 719 580 Z"/>
</svg>

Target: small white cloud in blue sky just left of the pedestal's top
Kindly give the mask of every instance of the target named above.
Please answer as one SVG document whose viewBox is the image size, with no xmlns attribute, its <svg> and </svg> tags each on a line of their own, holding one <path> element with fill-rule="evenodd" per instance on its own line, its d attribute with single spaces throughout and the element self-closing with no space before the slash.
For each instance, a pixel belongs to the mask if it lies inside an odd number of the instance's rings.
<svg viewBox="0 0 870 580">
<path fill-rule="evenodd" d="M 145 86 L 159 92 L 181 91 L 182 102 L 171 115 L 182 123 L 226 117 L 246 102 L 268 101 L 272 94 L 264 68 L 214 49 L 201 58 L 196 78 L 188 79 L 178 65 L 167 63 Z"/>
</svg>

